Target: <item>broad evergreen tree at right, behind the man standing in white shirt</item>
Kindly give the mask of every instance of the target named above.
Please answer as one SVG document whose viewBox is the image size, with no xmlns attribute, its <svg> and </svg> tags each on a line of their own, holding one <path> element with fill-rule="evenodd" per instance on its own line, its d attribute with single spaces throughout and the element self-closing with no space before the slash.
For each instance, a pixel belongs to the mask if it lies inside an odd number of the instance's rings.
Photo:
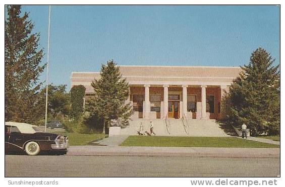
<svg viewBox="0 0 285 187">
<path fill-rule="evenodd" d="M 229 120 L 246 123 L 252 135 L 280 132 L 280 73 L 273 62 L 265 49 L 256 49 L 225 98 Z"/>
</svg>

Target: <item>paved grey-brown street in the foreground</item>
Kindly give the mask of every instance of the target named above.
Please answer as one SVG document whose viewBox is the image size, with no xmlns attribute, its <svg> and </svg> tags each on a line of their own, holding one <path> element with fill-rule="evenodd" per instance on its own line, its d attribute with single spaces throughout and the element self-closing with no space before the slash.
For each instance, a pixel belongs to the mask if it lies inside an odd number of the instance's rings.
<svg viewBox="0 0 285 187">
<path fill-rule="evenodd" d="M 279 158 L 6 155 L 5 176 L 277 176 Z"/>
</svg>

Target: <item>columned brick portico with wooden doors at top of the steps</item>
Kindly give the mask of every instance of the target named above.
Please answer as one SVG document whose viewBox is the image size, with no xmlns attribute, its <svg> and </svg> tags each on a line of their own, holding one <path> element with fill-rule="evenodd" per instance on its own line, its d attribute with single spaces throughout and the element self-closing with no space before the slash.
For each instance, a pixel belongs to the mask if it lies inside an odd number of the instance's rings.
<svg viewBox="0 0 285 187">
<path fill-rule="evenodd" d="M 133 119 L 219 119 L 224 86 L 131 85 Z"/>
</svg>

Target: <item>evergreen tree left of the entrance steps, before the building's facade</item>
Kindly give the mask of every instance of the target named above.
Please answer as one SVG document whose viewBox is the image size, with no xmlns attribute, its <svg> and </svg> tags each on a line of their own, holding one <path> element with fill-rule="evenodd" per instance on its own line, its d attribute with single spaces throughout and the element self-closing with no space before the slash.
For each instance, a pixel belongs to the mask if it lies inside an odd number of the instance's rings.
<svg viewBox="0 0 285 187">
<path fill-rule="evenodd" d="M 129 97 L 129 84 L 120 74 L 120 68 L 111 60 L 102 64 L 101 78 L 92 82 L 95 95 L 88 100 L 86 111 L 103 120 L 103 132 L 107 133 L 110 120 L 120 120 L 121 125 L 129 123 L 132 110 L 125 101 Z"/>
</svg>

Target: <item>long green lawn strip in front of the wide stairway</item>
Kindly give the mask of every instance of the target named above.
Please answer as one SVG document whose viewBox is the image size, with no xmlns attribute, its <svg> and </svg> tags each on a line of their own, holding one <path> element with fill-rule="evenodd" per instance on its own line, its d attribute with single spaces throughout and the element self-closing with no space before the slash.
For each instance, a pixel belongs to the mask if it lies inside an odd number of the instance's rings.
<svg viewBox="0 0 285 187">
<path fill-rule="evenodd" d="M 121 146 L 149 147 L 279 147 L 231 137 L 129 136 Z"/>
</svg>

